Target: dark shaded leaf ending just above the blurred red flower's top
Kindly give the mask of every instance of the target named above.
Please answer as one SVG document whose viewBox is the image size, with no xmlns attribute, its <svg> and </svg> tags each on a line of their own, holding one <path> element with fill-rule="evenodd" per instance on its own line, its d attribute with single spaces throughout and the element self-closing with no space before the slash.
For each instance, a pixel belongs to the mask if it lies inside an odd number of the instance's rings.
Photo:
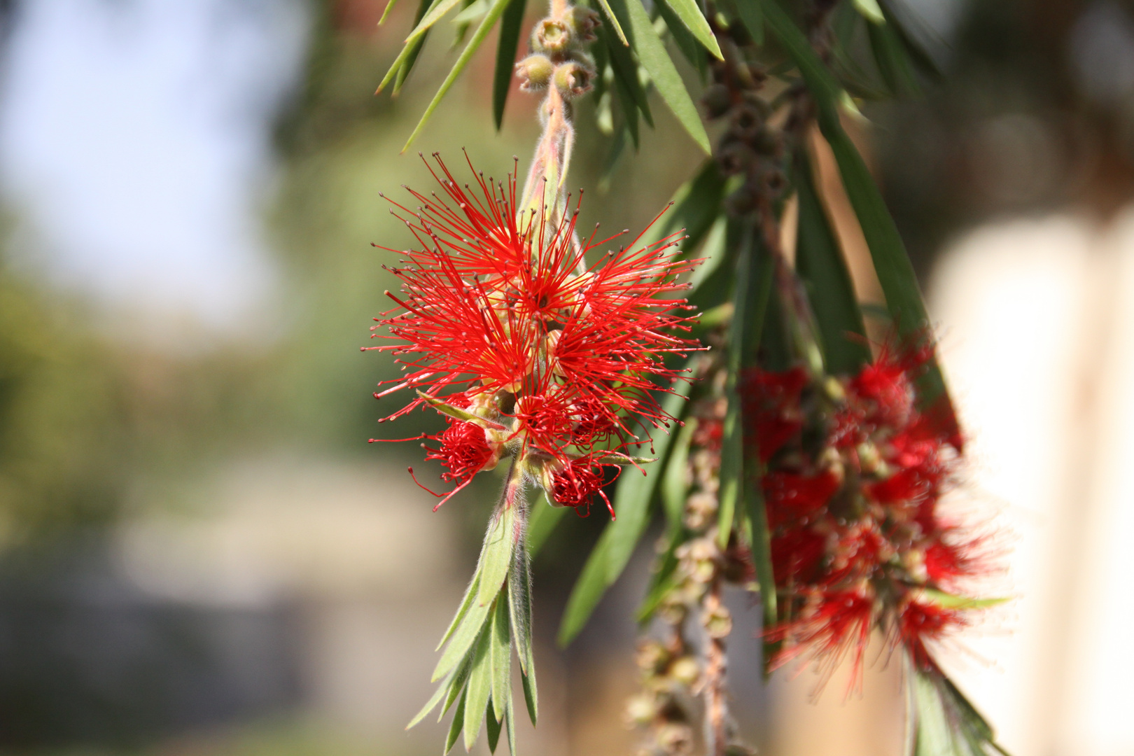
<svg viewBox="0 0 1134 756">
<path fill-rule="evenodd" d="M 866 328 L 854 283 L 838 239 L 815 192 L 807 155 L 801 151 L 795 165 L 799 202 L 795 270 L 807 287 L 812 312 L 823 343 L 828 372 L 849 375 L 871 362 Z"/>
</svg>

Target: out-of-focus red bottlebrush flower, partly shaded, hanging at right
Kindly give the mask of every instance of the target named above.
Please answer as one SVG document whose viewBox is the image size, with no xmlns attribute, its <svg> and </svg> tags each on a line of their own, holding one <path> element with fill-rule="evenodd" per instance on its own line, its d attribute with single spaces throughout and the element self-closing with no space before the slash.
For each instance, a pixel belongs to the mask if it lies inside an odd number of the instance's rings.
<svg viewBox="0 0 1134 756">
<path fill-rule="evenodd" d="M 958 452 L 954 432 L 916 407 L 925 359 L 887 348 L 818 387 L 802 368 L 745 376 L 781 608 L 773 665 L 810 657 L 826 679 L 849 653 L 861 670 L 878 628 L 936 670 L 926 646 L 980 605 L 959 594 L 987 567 L 982 538 L 938 507 Z"/>
</svg>

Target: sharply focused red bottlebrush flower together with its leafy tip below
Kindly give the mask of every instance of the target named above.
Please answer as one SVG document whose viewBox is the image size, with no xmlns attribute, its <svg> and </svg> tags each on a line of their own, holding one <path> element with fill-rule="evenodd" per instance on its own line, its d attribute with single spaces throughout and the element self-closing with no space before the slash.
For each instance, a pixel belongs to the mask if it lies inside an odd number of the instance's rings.
<svg viewBox="0 0 1134 756">
<path fill-rule="evenodd" d="M 443 432 L 415 438 L 434 442 L 423 444 L 425 458 L 455 484 L 434 494 L 438 507 L 510 458 L 476 572 L 441 642 L 441 686 L 413 722 L 459 697 L 446 750 L 460 732 L 472 747 L 482 720 L 494 749 L 501 729 L 514 741 L 513 647 L 533 723 L 536 713 L 525 487 L 584 513 L 595 493 L 606 501 L 608 474 L 650 461 L 627 452 L 676 419 L 653 394 L 682 379 L 665 358 L 699 348 L 683 335 L 692 307 L 675 296 L 696 262 L 679 256 L 680 232 L 608 250 L 621 233 L 596 241 L 595 227 L 581 241 L 578 203 L 569 213 L 558 199 L 523 210 L 515 172 L 493 181 L 474 171 L 473 185 L 460 186 L 434 159 L 441 194 L 411 190 L 416 211 L 393 203 L 418 246 L 390 269 L 401 287 L 386 294 L 397 306 L 375 318 L 374 338 L 387 343 L 369 349 L 395 355 L 404 373 L 376 398 L 415 392 L 383 421 L 417 407 L 446 415 Z"/>
</svg>

